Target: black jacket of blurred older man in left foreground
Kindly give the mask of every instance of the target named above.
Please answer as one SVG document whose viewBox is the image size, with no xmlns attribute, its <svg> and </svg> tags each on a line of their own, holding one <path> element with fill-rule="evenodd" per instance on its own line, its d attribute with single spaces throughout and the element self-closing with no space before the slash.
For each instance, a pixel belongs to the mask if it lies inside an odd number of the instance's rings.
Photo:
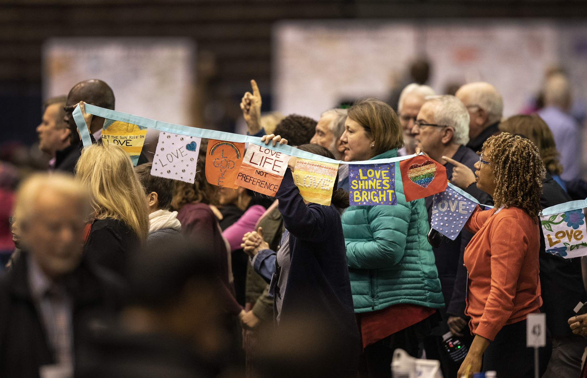
<svg viewBox="0 0 587 378">
<path fill-rule="evenodd" d="M 39 367 L 55 363 L 43 323 L 28 284 L 27 253 L 22 252 L 0 278 L 0 377 L 38 378 Z M 96 318 L 110 318 L 120 309 L 123 286 L 106 269 L 82 258 L 66 278 L 73 299 L 75 358 L 87 342 L 88 325 Z"/>
</svg>

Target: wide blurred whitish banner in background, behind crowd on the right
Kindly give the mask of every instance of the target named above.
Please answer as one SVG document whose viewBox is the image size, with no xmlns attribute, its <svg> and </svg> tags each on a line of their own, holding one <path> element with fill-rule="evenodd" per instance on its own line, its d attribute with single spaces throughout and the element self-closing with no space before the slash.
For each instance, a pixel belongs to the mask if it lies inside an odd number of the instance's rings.
<svg viewBox="0 0 587 378">
<path fill-rule="evenodd" d="M 411 82 L 438 94 L 486 81 L 519 113 L 546 70 L 568 71 L 575 97 L 587 92 L 587 28 L 548 20 L 284 21 L 274 28 L 274 104 L 284 114 L 317 118 L 360 96 L 397 106 Z M 429 75 L 410 65 L 429 63 Z"/>
</svg>

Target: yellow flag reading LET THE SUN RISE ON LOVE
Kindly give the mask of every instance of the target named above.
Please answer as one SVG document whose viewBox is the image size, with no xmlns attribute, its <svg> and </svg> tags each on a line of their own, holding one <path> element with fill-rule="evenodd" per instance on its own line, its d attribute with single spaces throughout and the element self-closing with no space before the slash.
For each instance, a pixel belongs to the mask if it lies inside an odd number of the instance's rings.
<svg viewBox="0 0 587 378">
<path fill-rule="evenodd" d="M 133 166 L 136 166 L 139 161 L 146 135 L 147 127 L 122 121 L 106 119 L 102 127 L 102 143 L 122 147 L 129 154 Z"/>
</svg>

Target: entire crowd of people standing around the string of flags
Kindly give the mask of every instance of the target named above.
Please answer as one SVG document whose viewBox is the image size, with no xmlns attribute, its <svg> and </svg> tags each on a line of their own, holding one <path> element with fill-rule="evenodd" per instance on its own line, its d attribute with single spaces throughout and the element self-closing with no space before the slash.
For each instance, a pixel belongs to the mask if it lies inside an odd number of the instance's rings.
<svg viewBox="0 0 587 378">
<path fill-rule="evenodd" d="M 212 185 L 204 168 L 194 183 L 155 177 L 84 112 L 115 109 L 107 83 L 48 99 L 38 143 L 1 147 L 0 376 L 391 377 L 400 348 L 447 378 L 531 377 L 538 312 L 539 376 L 587 376 L 587 318 L 573 311 L 587 263 L 546 252 L 538 218 L 587 198 L 585 104 L 556 68 L 507 119 L 491 83 L 437 95 L 428 75 L 418 61 L 386 102 L 318 120 L 262 114 L 251 80 L 240 108 L 247 134 L 274 146 L 345 162 L 426 154 L 481 204 L 454 240 L 430 228 L 433 196 L 406 201 L 401 180 L 397 205 L 349 206 L 340 164 L 326 206 L 301 197 L 295 159 L 275 197 Z"/>
</svg>

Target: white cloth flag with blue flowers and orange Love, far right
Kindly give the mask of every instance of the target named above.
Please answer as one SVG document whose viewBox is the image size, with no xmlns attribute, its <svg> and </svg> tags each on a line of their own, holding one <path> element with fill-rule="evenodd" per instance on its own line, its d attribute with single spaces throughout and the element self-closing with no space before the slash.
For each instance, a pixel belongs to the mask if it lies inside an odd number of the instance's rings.
<svg viewBox="0 0 587 378">
<path fill-rule="evenodd" d="M 545 209 L 547 211 L 548 209 Z M 582 208 L 540 217 L 546 252 L 564 258 L 587 255 L 587 230 Z"/>
</svg>

